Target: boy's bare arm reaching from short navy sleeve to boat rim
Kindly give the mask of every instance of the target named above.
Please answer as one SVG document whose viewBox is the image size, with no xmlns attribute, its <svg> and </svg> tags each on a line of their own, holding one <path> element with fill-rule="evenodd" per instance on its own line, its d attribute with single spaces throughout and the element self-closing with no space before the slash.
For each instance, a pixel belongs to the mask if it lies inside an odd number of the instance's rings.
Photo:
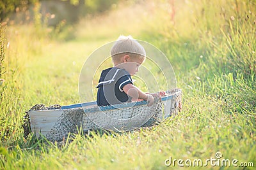
<svg viewBox="0 0 256 170">
<path fill-rule="evenodd" d="M 131 96 L 132 99 L 143 99 L 148 101 L 148 106 L 152 106 L 154 103 L 155 99 L 151 94 L 145 94 L 138 87 L 132 85 L 131 83 L 124 85 L 123 90 L 127 95 Z"/>
</svg>

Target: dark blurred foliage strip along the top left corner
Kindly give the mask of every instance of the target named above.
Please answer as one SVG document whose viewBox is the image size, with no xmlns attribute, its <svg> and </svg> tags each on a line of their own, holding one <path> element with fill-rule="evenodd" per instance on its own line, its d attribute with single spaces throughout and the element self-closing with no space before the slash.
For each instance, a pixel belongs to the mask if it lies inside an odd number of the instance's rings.
<svg viewBox="0 0 256 170">
<path fill-rule="evenodd" d="M 56 26 L 61 21 L 73 24 L 86 15 L 107 11 L 116 3 L 118 0 L 3 0 L 0 3 L 0 21 L 29 23 L 35 18 L 35 12 L 38 12 L 42 19 L 47 19 L 47 25 Z"/>
</svg>

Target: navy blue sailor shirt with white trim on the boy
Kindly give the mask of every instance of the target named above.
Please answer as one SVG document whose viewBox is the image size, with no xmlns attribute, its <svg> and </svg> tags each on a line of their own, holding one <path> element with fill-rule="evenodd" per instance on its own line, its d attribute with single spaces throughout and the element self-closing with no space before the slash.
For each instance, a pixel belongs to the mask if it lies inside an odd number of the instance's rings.
<svg viewBox="0 0 256 170">
<path fill-rule="evenodd" d="M 125 94 L 123 87 L 132 83 L 131 75 L 118 67 L 110 67 L 102 71 L 97 85 L 98 106 L 109 106 L 131 102 L 132 97 Z"/>
</svg>

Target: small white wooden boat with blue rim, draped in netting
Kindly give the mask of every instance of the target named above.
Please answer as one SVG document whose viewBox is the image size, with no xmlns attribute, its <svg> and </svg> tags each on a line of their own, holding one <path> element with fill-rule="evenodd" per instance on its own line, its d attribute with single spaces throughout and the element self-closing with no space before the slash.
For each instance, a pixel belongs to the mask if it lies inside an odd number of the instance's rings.
<svg viewBox="0 0 256 170">
<path fill-rule="evenodd" d="M 177 114 L 181 106 L 182 90 L 168 90 L 161 100 L 152 106 L 147 101 L 97 106 L 96 102 L 72 104 L 50 108 L 32 108 L 28 111 L 31 132 L 51 141 L 60 141 L 69 132 L 92 129 L 131 131 L 141 126 L 150 126 Z"/>
</svg>

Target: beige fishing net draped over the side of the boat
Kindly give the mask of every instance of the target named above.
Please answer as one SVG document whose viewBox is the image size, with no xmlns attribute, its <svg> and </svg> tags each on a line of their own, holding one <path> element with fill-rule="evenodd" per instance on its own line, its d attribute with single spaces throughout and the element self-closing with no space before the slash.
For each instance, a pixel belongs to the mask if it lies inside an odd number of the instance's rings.
<svg viewBox="0 0 256 170">
<path fill-rule="evenodd" d="M 147 106 L 147 101 L 139 101 L 113 106 L 94 106 L 88 109 L 65 109 L 45 137 L 50 141 L 61 141 L 67 139 L 69 133 L 77 133 L 80 128 L 83 129 L 83 132 L 97 129 L 122 132 L 156 125 L 164 118 L 177 114 L 180 102 L 181 93 L 176 93 L 172 98 L 172 107 L 168 115 L 165 113 L 164 102 L 158 98 L 155 98 L 152 106 Z M 60 105 L 45 107 L 43 104 L 36 104 L 31 110 L 60 108 Z"/>
</svg>

